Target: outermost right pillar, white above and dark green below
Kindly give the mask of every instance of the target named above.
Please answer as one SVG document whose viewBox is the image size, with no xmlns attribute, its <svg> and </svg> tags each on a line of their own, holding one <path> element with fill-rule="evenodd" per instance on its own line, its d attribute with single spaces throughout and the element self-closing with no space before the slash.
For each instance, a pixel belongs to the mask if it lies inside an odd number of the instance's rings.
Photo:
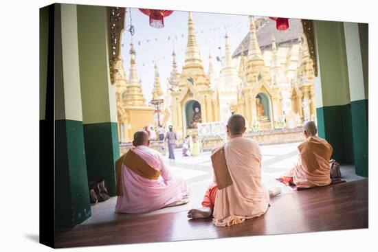
<svg viewBox="0 0 378 252">
<path fill-rule="evenodd" d="M 366 25 L 366 33 L 364 33 Z M 362 32 L 359 32 L 362 27 Z M 367 24 L 344 23 L 346 56 L 348 62 L 349 90 L 351 95 L 351 119 L 356 174 L 368 176 L 368 94 L 367 72 L 364 60 L 368 55 Z M 367 68 L 367 65 L 365 66 Z M 366 69 L 367 70 L 367 69 Z"/>
</svg>

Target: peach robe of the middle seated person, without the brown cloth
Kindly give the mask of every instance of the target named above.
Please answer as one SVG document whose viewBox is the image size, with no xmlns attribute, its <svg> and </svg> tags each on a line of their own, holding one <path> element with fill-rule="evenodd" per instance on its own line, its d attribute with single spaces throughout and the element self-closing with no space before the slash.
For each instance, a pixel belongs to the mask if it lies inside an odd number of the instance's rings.
<svg viewBox="0 0 378 252">
<path fill-rule="evenodd" d="M 261 181 L 258 143 L 245 137 L 234 137 L 227 141 L 224 150 L 232 185 L 216 192 L 213 223 L 218 227 L 261 216 L 269 205 L 269 192 Z"/>
</svg>

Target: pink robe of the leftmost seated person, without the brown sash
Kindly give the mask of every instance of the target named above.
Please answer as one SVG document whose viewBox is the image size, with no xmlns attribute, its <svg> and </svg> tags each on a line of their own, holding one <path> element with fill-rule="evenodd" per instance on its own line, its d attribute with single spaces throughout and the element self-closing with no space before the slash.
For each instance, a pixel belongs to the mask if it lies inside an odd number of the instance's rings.
<svg viewBox="0 0 378 252">
<path fill-rule="evenodd" d="M 146 213 L 181 201 L 188 196 L 185 181 L 170 173 L 162 154 L 146 146 L 137 146 L 133 151 L 162 174 L 157 180 L 146 179 L 122 164 L 123 196 L 117 196 L 116 212 Z"/>
</svg>

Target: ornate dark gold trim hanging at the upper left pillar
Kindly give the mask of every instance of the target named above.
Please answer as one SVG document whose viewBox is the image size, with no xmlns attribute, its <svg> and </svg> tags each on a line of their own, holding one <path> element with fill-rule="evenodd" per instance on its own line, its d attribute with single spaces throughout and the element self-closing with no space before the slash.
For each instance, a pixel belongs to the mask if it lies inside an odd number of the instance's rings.
<svg viewBox="0 0 378 252">
<path fill-rule="evenodd" d="M 109 73 L 111 84 L 114 84 L 115 63 L 121 56 L 121 36 L 124 30 L 126 8 L 108 7 L 109 36 Z"/>
</svg>

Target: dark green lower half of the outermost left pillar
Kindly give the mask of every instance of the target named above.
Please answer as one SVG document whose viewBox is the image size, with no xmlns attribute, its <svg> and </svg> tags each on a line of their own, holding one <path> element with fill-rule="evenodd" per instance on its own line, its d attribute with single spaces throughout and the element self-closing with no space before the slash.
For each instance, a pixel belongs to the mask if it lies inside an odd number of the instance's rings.
<svg viewBox="0 0 378 252">
<path fill-rule="evenodd" d="M 55 229 L 91 216 L 82 122 L 55 121 Z"/>
</svg>

